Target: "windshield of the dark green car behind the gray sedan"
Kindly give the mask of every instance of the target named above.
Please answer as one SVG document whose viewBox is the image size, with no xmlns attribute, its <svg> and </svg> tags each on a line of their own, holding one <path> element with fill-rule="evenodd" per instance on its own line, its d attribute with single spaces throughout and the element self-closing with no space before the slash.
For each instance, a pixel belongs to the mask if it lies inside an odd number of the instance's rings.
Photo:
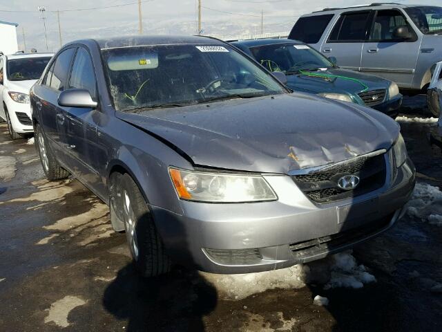
<svg viewBox="0 0 442 332">
<path fill-rule="evenodd" d="M 307 45 L 277 44 L 257 46 L 250 49 L 253 57 L 269 71 L 298 73 L 334 65 L 323 55 Z"/>
</svg>

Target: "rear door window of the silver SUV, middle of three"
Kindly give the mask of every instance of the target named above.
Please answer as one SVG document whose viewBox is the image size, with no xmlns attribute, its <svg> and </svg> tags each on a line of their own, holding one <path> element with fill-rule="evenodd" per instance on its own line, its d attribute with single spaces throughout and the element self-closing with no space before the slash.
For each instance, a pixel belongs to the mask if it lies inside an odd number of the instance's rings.
<svg viewBox="0 0 442 332">
<path fill-rule="evenodd" d="M 341 15 L 330 34 L 329 42 L 365 41 L 369 17 L 370 12 L 352 12 Z"/>
</svg>

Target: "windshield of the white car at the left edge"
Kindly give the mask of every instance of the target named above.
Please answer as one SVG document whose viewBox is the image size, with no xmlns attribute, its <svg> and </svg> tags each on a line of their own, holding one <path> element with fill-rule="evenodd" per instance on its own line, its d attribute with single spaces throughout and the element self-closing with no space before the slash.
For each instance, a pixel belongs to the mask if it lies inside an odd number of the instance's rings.
<svg viewBox="0 0 442 332">
<path fill-rule="evenodd" d="M 50 57 L 23 57 L 20 59 L 8 59 L 6 63 L 8 80 L 24 81 L 38 80 L 43 73 Z"/>
</svg>

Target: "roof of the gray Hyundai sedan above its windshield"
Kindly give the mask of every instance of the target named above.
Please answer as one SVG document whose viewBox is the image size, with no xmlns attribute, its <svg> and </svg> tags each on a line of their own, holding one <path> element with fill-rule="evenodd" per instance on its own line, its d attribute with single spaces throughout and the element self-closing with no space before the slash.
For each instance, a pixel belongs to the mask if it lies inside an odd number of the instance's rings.
<svg viewBox="0 0 442 332">
<path fill-rule="evenodd" d="M 121 48 L 144 45 L 170 45 L 170 44 L 224 44 L 219 39 L 204 36 L 175 36 L 175 35 L 133 35 L 106 39 L 95 39 L 99 47 Z"/>
</svg>

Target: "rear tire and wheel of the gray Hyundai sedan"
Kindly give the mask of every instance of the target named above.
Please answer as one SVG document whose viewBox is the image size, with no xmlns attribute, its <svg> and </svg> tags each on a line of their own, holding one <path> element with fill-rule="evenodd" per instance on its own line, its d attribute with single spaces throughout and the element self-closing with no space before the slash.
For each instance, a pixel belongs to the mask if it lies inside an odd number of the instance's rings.
<svg viewBox="0 0 442 332">
<path fill-rule="evenodd" d="M 48 180 L 60 180 L 69 176 L 69 172 L 60 166 L 57 159 L 55 159 L 54 154 L 52 154 L 52 151 L 50 151 L 48 144 L 46 143 L 44 133 L 41 131 L 39 124 L 36 124 L 35 126 L 34 144 L 35 149 L 37 149 L 39 152 L 41 166 L 43 167 L 44 174 Z"/>
</svg>

